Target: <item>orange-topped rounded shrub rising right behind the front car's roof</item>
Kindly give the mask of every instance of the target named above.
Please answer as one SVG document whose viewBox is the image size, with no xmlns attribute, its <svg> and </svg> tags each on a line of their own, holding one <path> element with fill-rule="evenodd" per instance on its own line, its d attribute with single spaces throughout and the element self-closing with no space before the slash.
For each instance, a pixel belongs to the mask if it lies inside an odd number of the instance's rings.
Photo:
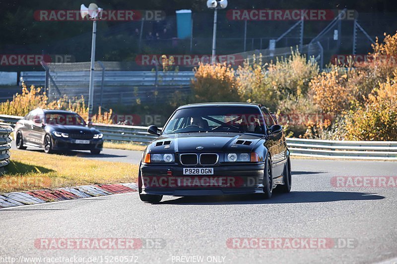
<svg viewBox="0 0 397 264">
<path fill-rule="evenodd" d="M 191 87 L 195 102 L 240 101 L 233 68 L 226 64 L 200 64 Z"/>
</svg>

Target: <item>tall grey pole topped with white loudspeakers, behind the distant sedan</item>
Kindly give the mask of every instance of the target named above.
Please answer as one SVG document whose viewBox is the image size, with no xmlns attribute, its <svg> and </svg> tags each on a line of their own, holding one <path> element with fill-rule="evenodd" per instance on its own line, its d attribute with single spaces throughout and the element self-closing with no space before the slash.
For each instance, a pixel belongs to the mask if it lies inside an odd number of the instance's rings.
<svg viewBox="0 0 397 264">
<path fill-rule="evenodd" d="M 90 84 L 88 90 L 88 122 L 91 121 L 92 108 L 94 105 L 94 63 L 95 63 L 95 39 L 96 39 L 96 21 L 101 18 L 102 8 L 98 7 L 95 3 L 90 3 L 88 8 L 82 4 L 80 6 L 81 17 L 84 18 L 88 15 L 92 23 L 92 43 L 91 43 L 91 65 L 90 65 Z"/>
</svg>

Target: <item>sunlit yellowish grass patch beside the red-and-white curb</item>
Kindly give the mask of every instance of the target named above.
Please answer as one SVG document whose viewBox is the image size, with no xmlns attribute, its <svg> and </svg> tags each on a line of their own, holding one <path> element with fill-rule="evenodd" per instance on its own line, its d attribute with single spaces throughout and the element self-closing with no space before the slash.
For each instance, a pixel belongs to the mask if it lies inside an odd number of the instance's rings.
<svg viewBox="0 0 397 264">
<path fill-rule="evenodd" d="M 38 165 L 40 164 L 40 165 Z M 0 193 L 85 184 L 136 182 L 138 165 L 12 150 Z"/>
</svg>

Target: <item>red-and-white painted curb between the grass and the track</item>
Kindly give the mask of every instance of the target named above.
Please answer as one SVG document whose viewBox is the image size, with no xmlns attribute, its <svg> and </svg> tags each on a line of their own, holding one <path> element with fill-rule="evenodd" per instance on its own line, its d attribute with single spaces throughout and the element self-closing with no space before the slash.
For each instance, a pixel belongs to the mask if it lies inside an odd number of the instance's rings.
<svg viewBox="0 0 397 264">
<path fill-rule="evenodd" d="M 138 185 L 135 183 L 120 183 L 2 193 L 0 194 L 0 208 L 131 193 L 137 190 Z"/>
</svg>

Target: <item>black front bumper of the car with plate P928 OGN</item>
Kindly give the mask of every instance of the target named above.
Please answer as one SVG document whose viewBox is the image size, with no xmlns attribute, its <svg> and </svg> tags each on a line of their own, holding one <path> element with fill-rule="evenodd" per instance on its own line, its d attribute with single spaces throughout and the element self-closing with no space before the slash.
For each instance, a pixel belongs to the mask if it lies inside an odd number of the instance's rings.
<svg viewBox="0 0 397 264">
<path fill-rule="evenodd" d="M 204 196 L 253 194 L 264 191 L 264 163 L 213 166 L 213 175 L 183 175 L 184 167 L 188 166 L 142 164 L 139 182 L 141 193 Z"/>
</svg>

